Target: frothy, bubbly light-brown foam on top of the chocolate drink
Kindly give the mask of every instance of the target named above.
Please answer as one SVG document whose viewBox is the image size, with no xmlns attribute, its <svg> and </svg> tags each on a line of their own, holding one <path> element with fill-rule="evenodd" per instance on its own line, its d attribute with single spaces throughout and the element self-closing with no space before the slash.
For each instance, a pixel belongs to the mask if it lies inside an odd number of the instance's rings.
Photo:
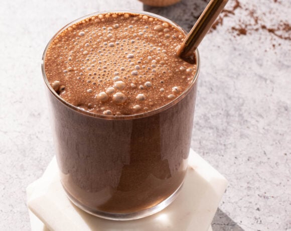
<svg viewBox="0 0 291 231">
<path fill-rule="evenodd" d="M 67 102 L 97 114 L 157 109 L 192 82 L 196 65 L 176 55 L 185 35 L 139 14 L 100 14 L 61 32 L 49 45 L 45 72 Z"/>
</svg>

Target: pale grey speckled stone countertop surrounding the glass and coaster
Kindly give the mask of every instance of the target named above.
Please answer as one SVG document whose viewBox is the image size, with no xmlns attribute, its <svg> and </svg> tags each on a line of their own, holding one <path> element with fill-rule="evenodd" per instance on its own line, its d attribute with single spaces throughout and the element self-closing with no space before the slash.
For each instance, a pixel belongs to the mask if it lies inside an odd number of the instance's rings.
<svg viewBox="0 0 291 231">
<path fill-rule="evenodd" d="M 29 230 L 26 186 L 54 155 L 43 50 L 65 24 L 97 11 L 145 10 L 189 31 L 206 6 L 133 0 L 2 1 L 0 7 L 0 230 Z M 192 148 L 229 180 L 217 230 L 291 230 L 289 0 L 230 0 L 199 47 Z"/>
</svg>

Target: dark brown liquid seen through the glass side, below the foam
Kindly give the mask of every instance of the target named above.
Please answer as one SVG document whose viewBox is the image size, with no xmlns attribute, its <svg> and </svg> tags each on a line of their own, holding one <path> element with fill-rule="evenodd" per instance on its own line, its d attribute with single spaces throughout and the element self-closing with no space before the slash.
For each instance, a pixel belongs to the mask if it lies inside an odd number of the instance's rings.
<svg viewBox="0 0 291 231">
<path fill-rule="evenodd" d="M 71 199 L 93 213 L 132 213 L 171 196 L 187 169 L 196 88 L 165 110 L 131 119 L 77 111 L 51 92 L 57 160 Z"/>
</svg>

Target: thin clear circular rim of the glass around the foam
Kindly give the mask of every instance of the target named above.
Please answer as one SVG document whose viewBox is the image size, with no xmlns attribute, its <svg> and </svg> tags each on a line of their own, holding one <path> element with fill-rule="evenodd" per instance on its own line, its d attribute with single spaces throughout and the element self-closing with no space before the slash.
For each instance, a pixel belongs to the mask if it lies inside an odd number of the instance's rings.
<svg viewBox="0 0 291 231">
<path fill-rule="evenodd" d="M 161 111 L 167 110 L 168 108 L 170 108 L 171 106 L 177 104 L 178 102 L 180 102 L 185 96 L 186 94 L 191 90 L 191 88 L 193 87 L 193 85 L 196 83 L 199 72 L 200 72 L 200 56 L 199 56 L 199 52 L 198 49 L 195 50 L 195 58 L 196 58 L 196 73 L 194 75 L 194 78 L 192 80 L 192 82 L 189 84 L 189 86 L 185 89 L 185 91 L 183 91 L 177 98 L 175 98 L 173 101 L 158 107 L 154 110 L 150 110 L 148 112 L 143 112 L 143 113 L 137 113 L 137 114 L 130 114 L 130 115 L 122 115 L 122 116 L 112 116 L 112 115 L 105 115 L 105 114 L 97 114 L 94 112 L 90 112 L 90 111 L 86 111 L 86 110 L 82 110 L 79 107 L 67 102 L 65 99 L 63 99 L 50 85 L 47 76 L 46 76 L 46 72 L 45 72 L 45 56 L 47 53 L 47 50 L 50 46 L 50 44 L 52 43 L 52 41 L 60 34 L 62 33 L 65 29 L 67 29 L 68 27 L 70 27 L 71 25 L 82 21 L 84 19 L 87 19 L 89 17 L 92 16 L 97 16 L 100 14 L 106 14 L 106 13 L 128 13 L 128 14 L 139 14 L 139 15 L 145 15 L 145 16 L 150 16 L 153 18 L 157 18 L 159 20 L 165 21 L 167 23 L 170 23 L 172 26 L 176 27 L 179 31 L 183 32 L 185 35 L 187 35 L 188 33 L 182 28 L 180 27 L 178 24 L 176 24 L 175 22 L 154 14 L 154 13 L 150 13 L 150 12 L 145 12 L 145 11 L 135 11 L 135 10 L 114 10 L 114 11 L 100 11 L 100 12 L 95 12 L 86 16 L 83 16 L 81 18 L 78 18 L 70 23 L 68 23 L 67 25 L 65 25 L 64 27 L 62 27 L 48 42 L 48 44 L 46 45 L 46 48 L 44 50 L 43 56 L 42 56 L 42 62 L 41 62 L 41 67 L 42 67 L 42 75 L 44 78 L 44 81 L 46 83 L 46 86 L 49 88 L 50 92 L 56 97 L 56 99 L 58 99 L 60 102 L 62 102 L 64 105 L 68 106 L 70 109 L 75 110 L 76 112 L 82 113 L 84 115 L 90 116 L 90 117 L 95 117 L 95 118 L 99 118 L 99 119 L 105 119 L 105 120 L 132 120 L 132 119 L 138 119 L 138 118 L 144 118 L 144 117 L 149 117 L 149 116 L 153 116 L 154 114 L 157 114 Z"/>
</svg>

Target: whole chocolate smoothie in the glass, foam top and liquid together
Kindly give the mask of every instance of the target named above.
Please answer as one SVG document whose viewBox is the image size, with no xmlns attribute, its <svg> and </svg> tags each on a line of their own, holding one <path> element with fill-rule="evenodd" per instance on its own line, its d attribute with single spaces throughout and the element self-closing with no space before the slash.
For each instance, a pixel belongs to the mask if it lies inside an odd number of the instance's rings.
<svg viewBox="0 0 291 231">
<path fill-rule="evenodd" d="M 197 65 L 176 55 L 184 38 L 152 15 L 104 13 L 70 24 L 47 46 L 57 161 L 79 207 L 132 214 L 182 185 L 197 87 Z"/>
</svg>

